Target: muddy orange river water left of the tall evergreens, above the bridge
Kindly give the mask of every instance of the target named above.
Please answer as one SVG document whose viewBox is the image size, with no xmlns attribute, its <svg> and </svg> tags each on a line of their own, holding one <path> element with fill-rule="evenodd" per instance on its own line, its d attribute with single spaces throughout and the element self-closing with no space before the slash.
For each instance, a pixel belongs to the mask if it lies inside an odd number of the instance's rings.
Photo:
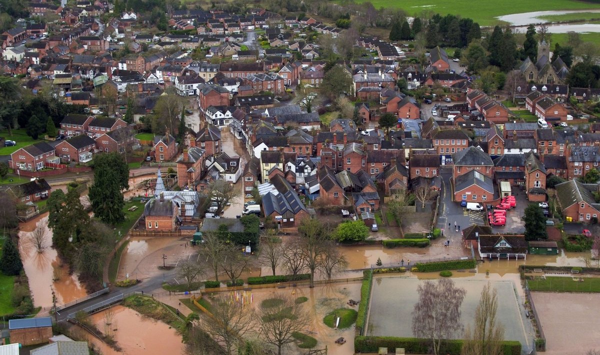
<svg viewBox="0 0 600 355">
<path fill-rule="evenodd" d="M 37 252 L 31 240 L 32 231 L 38 224 L 45 231 L 41 253 Z M 19 249 L 34 305 L 41 306 L 42 311 L 51 308 L 52 290 L 56 293 L 58 305 L 86 296 L 85 288 L 79 283 L 77 275 L 69 275 L 68 267 L 59 263 L 56 250 L 51 247 L 52 231 L 48 228 L 48 214 L 44 213 L 19 227 Z"/>
</svg>

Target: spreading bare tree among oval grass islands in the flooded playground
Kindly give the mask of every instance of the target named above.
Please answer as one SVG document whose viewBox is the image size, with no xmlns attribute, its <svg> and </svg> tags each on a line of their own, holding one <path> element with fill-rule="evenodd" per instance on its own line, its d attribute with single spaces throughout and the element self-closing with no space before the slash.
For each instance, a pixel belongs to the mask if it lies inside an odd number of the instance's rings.
<svg viewBox="0 0 600 355">
<path fill-rule="evenodd" d="M 284 345 L 294 341 L 292 333 L 301 332 L 308 325 L 304 305 L 296 304 L 291 298 L 284 299 L 280 305 L 260 307 L 257 315 L 263 340 L 275 345 L 278 355 Z"/>
</svg>

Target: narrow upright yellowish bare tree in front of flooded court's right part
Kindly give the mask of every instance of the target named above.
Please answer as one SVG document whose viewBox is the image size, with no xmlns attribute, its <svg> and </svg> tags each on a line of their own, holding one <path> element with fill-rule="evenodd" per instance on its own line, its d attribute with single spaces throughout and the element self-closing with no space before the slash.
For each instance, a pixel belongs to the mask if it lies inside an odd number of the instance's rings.
<svg viewBox="0 0 600 355">
<path fill-rule="evenodd" d="M 488 282 L 481 291 L 475 310 L 473 330 L 467 326 L 464 332 L 462 355 L 502 355 L 504 326 L 497 323 L 498 290 Z"/>
</svg>

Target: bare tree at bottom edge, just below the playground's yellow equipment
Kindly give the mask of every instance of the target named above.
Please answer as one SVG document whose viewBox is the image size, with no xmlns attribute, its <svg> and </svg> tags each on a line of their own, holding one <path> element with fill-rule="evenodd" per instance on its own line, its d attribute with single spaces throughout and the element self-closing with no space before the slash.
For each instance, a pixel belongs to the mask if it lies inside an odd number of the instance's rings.
<svg viewBox="0 0 600 355">
<path fill-rule="evenodd" d="M 221 297 L 211 308 L 212 318 L 203 324 L 206 333 L 215 341 L 223 344 L 226 354 L 232 354 L 233 348 L 253 325 L 253 314 L 242 303 Z"/>
</svg>

